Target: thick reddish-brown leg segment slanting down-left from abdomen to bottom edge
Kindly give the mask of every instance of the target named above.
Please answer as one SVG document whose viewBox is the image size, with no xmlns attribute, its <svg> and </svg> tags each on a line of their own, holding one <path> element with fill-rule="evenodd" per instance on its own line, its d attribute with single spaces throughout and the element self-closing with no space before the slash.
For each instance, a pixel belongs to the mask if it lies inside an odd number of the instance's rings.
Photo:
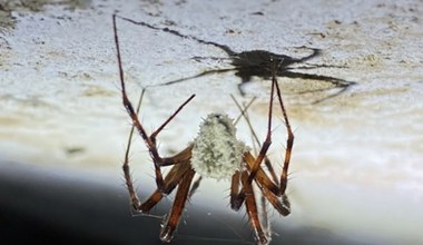
<svg viewBox="0 0 423 245">
<path fill-rule="evenodd" d="M 190 166 L 190 165 L 189 165 Z M 188 199 L 189 187 L 195 175 L 194 169 L 189 169 L 180 179 L 178 190 L 175 196 L 174 206 L 170 214 L 165 218 L 164 225 L 160 231 L 160 239 L 169 243 L 174 237 L 174 233 L 179 224 L 180 216 L 183 215 L 185 204 Z"/>
</svg>

